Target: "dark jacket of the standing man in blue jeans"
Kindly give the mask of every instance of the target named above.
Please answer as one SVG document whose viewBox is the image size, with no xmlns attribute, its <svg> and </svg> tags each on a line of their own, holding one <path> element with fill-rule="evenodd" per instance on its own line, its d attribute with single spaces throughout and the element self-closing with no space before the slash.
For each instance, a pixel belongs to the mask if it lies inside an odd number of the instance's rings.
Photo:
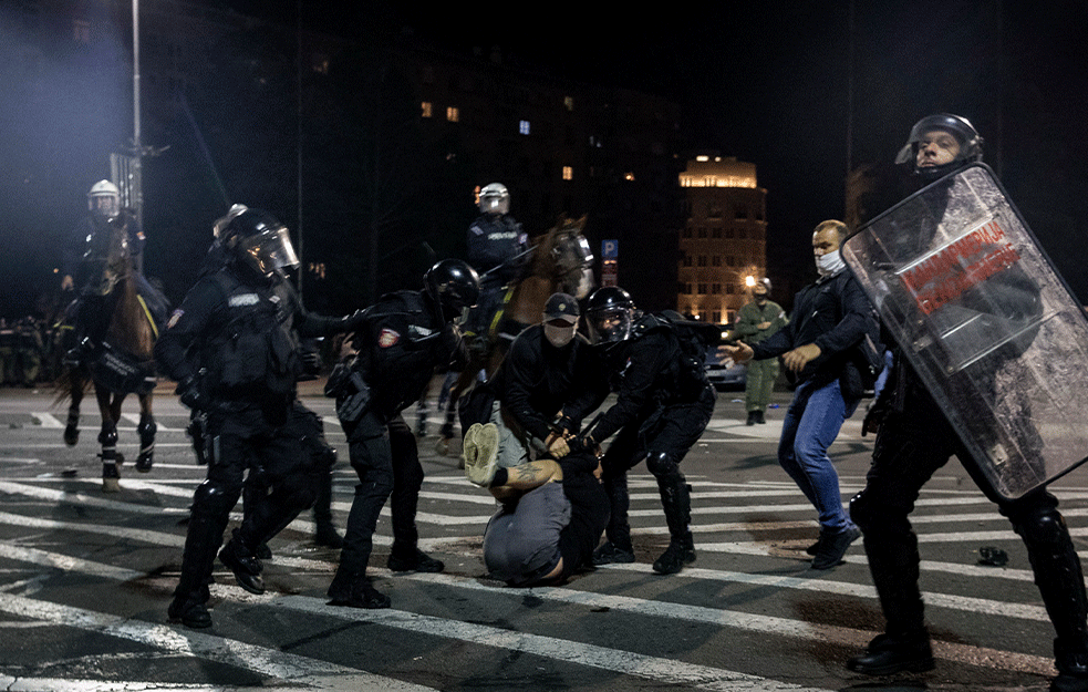
<svg viewBox="0 0 1088 692">
<path fill-rule="evenodd" d="M 858 280 L 843 268 L 798 291 L 789 323 L 752 349 L 754 358 L 763 360 L 815 343 L 820 348 L 820 355 L 805 366 L 799 380 L 812 380 L 823 386 L 838 379 L 846 394 L 860 396 L 858 390 L 863 389 L 860 369 L 866 366 L 860 347 L 867 337 L 879 355 L 877 312 Z"/>
</svg>

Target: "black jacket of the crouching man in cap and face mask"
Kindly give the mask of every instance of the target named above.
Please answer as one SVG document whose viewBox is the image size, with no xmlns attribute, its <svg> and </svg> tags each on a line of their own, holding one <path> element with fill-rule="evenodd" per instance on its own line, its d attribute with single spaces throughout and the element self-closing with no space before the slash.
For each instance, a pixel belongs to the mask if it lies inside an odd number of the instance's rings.
<svg viewBox="0 0 1088 692">
<path fill-rule="evenodd" d="M 540 324 L 518 334 L 493 382 L 506 409 L 538 440 L 547 438 L 560 410 L 577 430 L 609 394 L 600 354 L 577 335 L 557 349 Z"/>
</svg>

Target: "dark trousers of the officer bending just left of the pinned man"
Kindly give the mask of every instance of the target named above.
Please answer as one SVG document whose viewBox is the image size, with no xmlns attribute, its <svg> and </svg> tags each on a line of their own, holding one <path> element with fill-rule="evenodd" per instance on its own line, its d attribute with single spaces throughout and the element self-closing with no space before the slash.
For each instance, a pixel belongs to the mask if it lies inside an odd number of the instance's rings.
<svg viewBox="0 0 1088 692">
<path fill-rule="evenodd" d="M 359 476 L 355 497 L 348 514 L 340 568 L 348 572 L 366 571 L 373 549 L 377 517 L 392 497 L 393 550 L 414 550 L 419 535 L 415 526 L 423 466 L 415 435 L 397 415 L 387 423 L 366 412 L 358 423 L 345 424 L 351 466 Z"/>
</svg>

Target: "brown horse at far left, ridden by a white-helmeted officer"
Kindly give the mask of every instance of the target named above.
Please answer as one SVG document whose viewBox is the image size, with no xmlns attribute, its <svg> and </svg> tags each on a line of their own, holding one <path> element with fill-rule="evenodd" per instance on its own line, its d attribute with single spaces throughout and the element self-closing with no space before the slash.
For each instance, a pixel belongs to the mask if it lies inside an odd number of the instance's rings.
<svg viewBox="0 0 1088 692">
<path fill-rule="evenodd" d="M 80 437 L 80 403 L 86 388 L 94 385 L 94 396 L 102 414 L 99 444 L 102 445 L 102 489 L 120 490 L 117 466 L 124 457 L 117 452 L 117 422 L 121 404 L 128 394 L 139 397 L 139 453 L 136 471 L 152 468 L 155 452 L 155 419 L 152 392 L 155 389 L 154 354 L 158 326 L 147 301 L 137 291 L 143 278 L 135 272 L 128 250 L 128 231 L 123 226 L 100 224 L 89 240 L 83 258 L 87 277 L 81 301 L 81 319 L 101 320 L 91 329 L 101 333 L 87 361 L 61 374 L 58 403 L 70 399 L 64 443 L 74 446 Z M 145 282 L 146 283 L 146 282 Z M 90 309 L 89 309 L 90 308 Z M 102 329 L 104 327 L 104 330 Z"/>
</svg>

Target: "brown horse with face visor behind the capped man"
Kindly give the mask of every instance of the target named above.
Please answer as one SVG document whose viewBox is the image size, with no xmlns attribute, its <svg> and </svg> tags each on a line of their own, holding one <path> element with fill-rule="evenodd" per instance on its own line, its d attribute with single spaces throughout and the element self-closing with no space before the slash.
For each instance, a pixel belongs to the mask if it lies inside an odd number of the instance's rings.
<svg viewBox="0 0 1088 692">
<path fill-rule="evenodd" d="M 501 314 L 497 318 L 488 316 L 487 323 L 493 327 L 483 348 L 470 349 L 468 365 L 449 390 L 446 421 L 436 446 L 439 454 L 449 453 L 457 401 L 476 381 L 480 370 L 487 378 L 495 374 L 514 339 L 521 330 L 540 322 L 545 303 L 552 293 L 562 291 L 582 299 L 592 290 L 593 273 L 590 267 L 593 254 L 582 235 L 584 226 L 584 216 L 578 219 L 562 217 L 556 226 L 545 231 L 532 247 L 529 265 L 521 278 L 507 291 L 509 299 L 499 308 Z"/>
</svg>

